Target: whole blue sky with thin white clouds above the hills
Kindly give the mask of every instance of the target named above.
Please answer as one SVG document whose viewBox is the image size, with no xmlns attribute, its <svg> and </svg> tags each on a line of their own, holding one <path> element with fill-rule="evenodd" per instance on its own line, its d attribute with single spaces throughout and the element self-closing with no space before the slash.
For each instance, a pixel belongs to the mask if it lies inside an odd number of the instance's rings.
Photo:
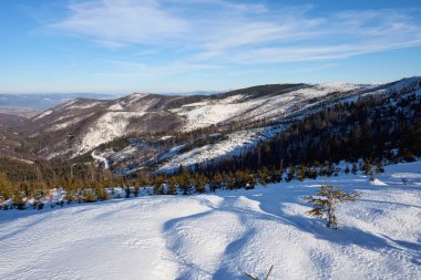
<svg viewBox="0 0 421 280">
<path fill-rule="evenodd" d="M 421 1 L 1 0 L 0 93 L 421 75 Z"/>
</svg>

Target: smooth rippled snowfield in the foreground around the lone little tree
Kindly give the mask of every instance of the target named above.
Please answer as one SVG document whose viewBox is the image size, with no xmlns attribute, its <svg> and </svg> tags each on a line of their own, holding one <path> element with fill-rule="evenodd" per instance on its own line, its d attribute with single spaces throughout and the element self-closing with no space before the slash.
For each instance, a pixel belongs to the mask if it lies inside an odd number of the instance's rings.
<svg viewBox="0 0 421 280">
<path fill-rule="evenodd" d="M 271 265 L 274 280 L 421 279 L 420 162 L 331 177 L 362 194 L 339 230 L 305 215 L 320 183 L 0 211 L 0 279 L 248 279 Z"/>
</svg>

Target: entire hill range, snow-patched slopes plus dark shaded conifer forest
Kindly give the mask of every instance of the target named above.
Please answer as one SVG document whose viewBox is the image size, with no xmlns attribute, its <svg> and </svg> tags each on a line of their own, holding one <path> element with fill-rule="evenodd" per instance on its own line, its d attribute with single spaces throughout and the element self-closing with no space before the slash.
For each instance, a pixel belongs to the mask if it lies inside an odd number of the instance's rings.
<svg viewBox="0 0 421 280">
<path fill-rule="evenodd" d="M 420 89 L 421 77 L 410 77 L 78 98 L 4 121 L 0 168 L 34 180 L 410 160 L 420 155 Z"/>
</svg>

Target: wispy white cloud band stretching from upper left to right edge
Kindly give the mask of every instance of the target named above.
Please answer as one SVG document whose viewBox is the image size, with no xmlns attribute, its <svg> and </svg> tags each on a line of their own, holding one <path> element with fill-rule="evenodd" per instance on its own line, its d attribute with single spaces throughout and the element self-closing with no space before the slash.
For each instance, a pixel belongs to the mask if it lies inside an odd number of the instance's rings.
<svg viewBox="0 0 421 280">
<path fill-rule="evenodd" d="M 227 0 L 90 0 L 72 2 L 68 17 L 50 28 L 111 49 L 184 52 L 192 65 L 338 60 L 421 45 L 419 11 L 312 10 Z"/>
</svg>

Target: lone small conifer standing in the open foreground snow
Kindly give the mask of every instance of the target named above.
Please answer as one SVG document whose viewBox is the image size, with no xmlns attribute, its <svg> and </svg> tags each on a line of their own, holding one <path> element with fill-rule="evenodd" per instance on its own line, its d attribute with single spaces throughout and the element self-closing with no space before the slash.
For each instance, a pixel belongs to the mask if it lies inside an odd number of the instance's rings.
<svg viewBox="0 0 421 280">
<path fill-rule="evenodd" d="M 327 219 L 327 227 L 338 229 L 338 220 L 335 215 L 337 205 L 345 201 L 355 201 L 360 197 L 359 193 L 345 193 L 338 187 L 331 185 L 321 185 L 316 196 L 306 196 L 304 199 L 314 205 L 314 208 L 307 211 L 308 215 Z"/>
</svg>

